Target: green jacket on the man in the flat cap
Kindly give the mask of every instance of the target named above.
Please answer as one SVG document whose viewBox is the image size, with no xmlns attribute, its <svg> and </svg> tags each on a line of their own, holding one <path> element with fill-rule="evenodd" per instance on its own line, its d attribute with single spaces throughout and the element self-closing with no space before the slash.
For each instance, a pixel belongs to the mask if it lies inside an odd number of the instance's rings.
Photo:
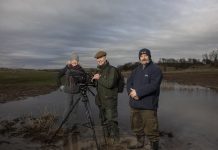
<svg viewBox="0 0 218 150">
<path fill-rule="evenodd" d="M 119 76 L 116 69 L 106 62 L 105 65 L 98 66 L 98 73 L 101 77 L 97 81 L 96 104 L 103 108 L 117 106 Z"/>
</svg>

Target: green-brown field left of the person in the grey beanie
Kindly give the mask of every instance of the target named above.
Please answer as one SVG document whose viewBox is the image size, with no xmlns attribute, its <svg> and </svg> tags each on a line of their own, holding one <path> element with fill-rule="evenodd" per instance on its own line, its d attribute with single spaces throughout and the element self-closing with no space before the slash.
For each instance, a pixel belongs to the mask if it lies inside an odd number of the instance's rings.
<svg viewBox="0 0 218 150">
<path fill-rule="evenodd" d="M 56 88 L 54 71 L 28 69 L 0 70 L 0 102 L 46 94 Z"/>
</svg>

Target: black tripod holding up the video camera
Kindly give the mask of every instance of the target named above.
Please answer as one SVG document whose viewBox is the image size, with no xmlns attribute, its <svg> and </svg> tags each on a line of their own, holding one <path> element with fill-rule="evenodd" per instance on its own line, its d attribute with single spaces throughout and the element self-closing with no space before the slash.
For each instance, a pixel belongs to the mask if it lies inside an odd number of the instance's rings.
<svg viewBox="0 0 218 150">
<path fill-rule="evenodd" d="M 52 140 L 55 138 L 55 136 L 57 135 L 57 133 L 60 131 L 60 129 L 62 128 L 62 126 L 64 125 L 64 123 L 66 123 L 67 119 L 69 118 L 70 114 L 72 113 L 72 111 L 74 110 L 74 108 L 76 107 L 76 105 L 79 103 L 80 100 L 82 100 L 84 106 L 85 106 L 85 110 L 86 110 L 86 117 L 88 120 L 88 123 L 83 124 L 83 126 L 90 128 L 93 132 L 93 139 L 95 140 L 95 144 L 97 147 L 97 150 L 100 150 L 100 146 L 98 144 L 97 141 L 97 136 L 95 133 L 95 124 L 94 124 L 94 120 L 91 117 L 91 108 L 90 108 L 90 103 L 89 103 L 89 99 L 87 96 L 87 90 L 94 95 L 94 93 L 89 89 L 88 84 L 81 84 L 80 85 L 80 93 L 82 95 L 81 98 L 77 99 L 76 102 L 74 103 L 74 105 L 72 106 L 72 109 L 68 112 L 68 114 L 66 115 L 66 117 L 63 119 L 63 121 L 61 122 L 59 128 L 56 130 L 56 132 L 54 133 L 54 135 L 52 136 L 52 138 L 49 140 L 48 143 L 51 143 Z"/>
</svg>

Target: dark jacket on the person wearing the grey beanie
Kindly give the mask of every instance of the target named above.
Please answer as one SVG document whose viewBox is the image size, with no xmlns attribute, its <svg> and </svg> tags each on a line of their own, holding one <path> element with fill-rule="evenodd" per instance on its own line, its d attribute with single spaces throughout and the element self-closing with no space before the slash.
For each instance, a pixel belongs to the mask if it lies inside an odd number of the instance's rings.
<svg viewBox="0 0 218 150">
<path fill-rule="evenodd" d="M 65 76 L 64 82 L 61 78 Z M 57 84 L 58 86 L 64 85 L 64 92 L 70 94 L 79 93 L 79 83 L 83 83 L 86 80 L 86 73 L 84 69 L 80 66 L 66 65 L 58 73 Z"/>
</svg>

